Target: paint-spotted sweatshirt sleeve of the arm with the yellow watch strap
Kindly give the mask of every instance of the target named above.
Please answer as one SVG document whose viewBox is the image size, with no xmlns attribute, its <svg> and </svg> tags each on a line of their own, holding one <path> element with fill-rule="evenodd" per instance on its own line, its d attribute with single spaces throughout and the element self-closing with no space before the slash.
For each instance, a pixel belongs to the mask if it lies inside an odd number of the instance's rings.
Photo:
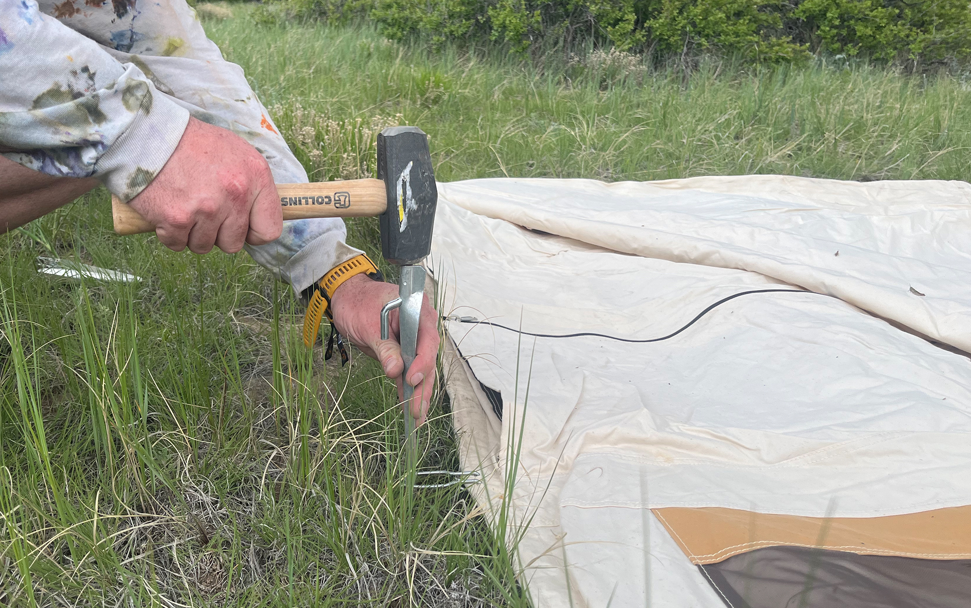
<svg viewBox="0 0 971 608">
<path fill-rule="evenodd" d="M 75 0 L 81 5 L 82 0 Z M 41 0 L 42 10 L 56 15 L 56 0 Z M 87 7 L 87 5 L 84 5 Z M 193 118 L 236 133 L 266 158 L 278 184 L 305 183 L 307 172 L 286 145 L 280 129 L 253 92 L 243 69 L 226 61 L 185 0 L 138 4 L 118 17 L 114 6 L 60 17 L 84 32 L 122 64 L 137 65 L 159 91 Z M 120 36 L 117 32 L 134 32 Z M 173 41 L 178 41 L 176 44 Z M 340 218 L 289 220 L 280 238 L 266 245 L 247 245 L 252 258 L 296 293 L 310 287 L 331 268 L 361 253 L 346 243 Z"/>
</svg>

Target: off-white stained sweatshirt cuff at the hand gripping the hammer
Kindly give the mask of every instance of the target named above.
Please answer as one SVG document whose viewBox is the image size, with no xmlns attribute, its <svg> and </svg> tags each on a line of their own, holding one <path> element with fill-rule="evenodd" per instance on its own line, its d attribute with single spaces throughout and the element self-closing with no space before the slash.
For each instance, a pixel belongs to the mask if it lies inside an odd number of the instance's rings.
<svg viewBox="0 0 971 608">
<path fill-rule="evenodd" d="M 188 125 L 188 110 L 158 91 L 147 81 L 130 87 L 145 87 L 140 112 L 95 165 L 95 174 L 122 202 L 144 190 L 175 152 Z M 125 91 L 128 93 L 128 91 Z"/>
</svg>

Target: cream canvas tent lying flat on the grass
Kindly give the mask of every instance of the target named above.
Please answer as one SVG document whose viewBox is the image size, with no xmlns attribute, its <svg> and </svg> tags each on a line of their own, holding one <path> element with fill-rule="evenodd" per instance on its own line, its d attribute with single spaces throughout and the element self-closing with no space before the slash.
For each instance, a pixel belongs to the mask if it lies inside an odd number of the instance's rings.
<svg viewBox="0 0 971 608">
<path fill-rule="evenodd" d="M 439 188 L 462 463 L 536 606 L 971 603 L 971 186 Z"/>
</svg>

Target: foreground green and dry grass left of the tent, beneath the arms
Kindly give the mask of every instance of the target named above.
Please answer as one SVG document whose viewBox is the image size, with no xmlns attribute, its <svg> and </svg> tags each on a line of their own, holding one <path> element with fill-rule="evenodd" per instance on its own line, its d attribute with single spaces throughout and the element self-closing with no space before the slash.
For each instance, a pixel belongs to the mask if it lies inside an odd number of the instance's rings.
<svg viewBox="0 0 971 608">
<path fill-rule="evenodd" d="M 377 365 L 308 353 L 299 304 L 246 254 L 117 238 L 107 210 L 96 192 L 31 228 L 137 286 L 38 276 L 44 248 L 7 238 L 0 604 L 504 601 L 509 568 L 469 557 L 496 551 L 463 491 L 409 503 Z M 456 469 L 448 420 L 422 446 Z"/>
</svg>

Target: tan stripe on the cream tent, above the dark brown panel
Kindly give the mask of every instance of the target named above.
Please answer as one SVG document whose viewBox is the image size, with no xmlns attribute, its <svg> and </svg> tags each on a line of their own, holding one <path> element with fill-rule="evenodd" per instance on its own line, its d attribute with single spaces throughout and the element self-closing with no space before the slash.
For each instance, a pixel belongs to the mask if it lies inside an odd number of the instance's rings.
<svg viewBox="0 0 971 608">
<path fill-rule="evenodd" d="M 807 518 L 720 507 L 653 509 L 692 563 L 788 545 L 859 555 L 971 558 L 971 505 L 879 518 Z"/>
</svg>

